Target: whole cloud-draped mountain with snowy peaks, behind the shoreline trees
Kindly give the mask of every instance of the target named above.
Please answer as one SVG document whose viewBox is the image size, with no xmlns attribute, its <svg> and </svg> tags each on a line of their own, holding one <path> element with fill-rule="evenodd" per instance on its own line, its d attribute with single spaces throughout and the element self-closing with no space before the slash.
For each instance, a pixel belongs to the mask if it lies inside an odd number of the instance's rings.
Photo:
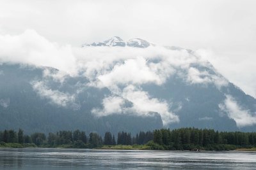
<svg viewBox="0 0 256 170">
<path fill-rule="evenodd" d="M 255 131 L 256 99 L 192 50 L 113 37 L 79 52 L 76 74 L 0 64 L 0 130 Z"/>
</svg>

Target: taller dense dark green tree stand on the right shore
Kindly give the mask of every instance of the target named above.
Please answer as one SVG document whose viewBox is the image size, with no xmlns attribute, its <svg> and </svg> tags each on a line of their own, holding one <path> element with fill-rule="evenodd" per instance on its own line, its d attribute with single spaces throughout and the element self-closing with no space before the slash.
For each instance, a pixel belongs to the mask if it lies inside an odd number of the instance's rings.
<svg viewBox="0 0 256 170">
<path fill-rule="evenodd" d="M 164 150 L 234 150 L 256 146 L 255 132 L 218 132 L 213 129 L 159 129 L 154 143 Z"/>
</svg>

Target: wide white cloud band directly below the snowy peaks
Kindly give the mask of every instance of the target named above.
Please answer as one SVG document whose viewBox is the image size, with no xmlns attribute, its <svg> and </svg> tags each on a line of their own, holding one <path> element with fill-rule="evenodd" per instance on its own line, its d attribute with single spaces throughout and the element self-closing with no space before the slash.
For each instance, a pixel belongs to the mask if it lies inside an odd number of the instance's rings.
<svg viewBox="0 0 256 170">
<path fill-rule="evenodd" d="M 73 49 L 77 63 L 79 63 L 77 64 L 79 69 L 84 69 L 84 75 L 88 77 L 97 77 L 102 74 L 107 74 L 113 67 L 118 69 L 118 67 L 122 66 L 126 69 L 128 66 L 131 66 L 131 64 L 138 66 L 136 68 L 132 66 L 131 69 L 136 70 L 131 71 L 143 71 L 143 73 L 147 71 L 147 74 L 149 74 L 148 71 L 154 71 L 159 74 L 170 74 L 173 71 L 170 63 L 172 63 L 173 66 L 180 66 L 196 60 L 194 56 L 188 55 L 187 52 L 168 50 L 161 46 L 150 46 L 148 48 L 88 46 Z M 185 54 L 186 57 L 182 56 L 183 54 Z M 173 56 L 173 59 L 170 59 L 170 56 Z M 158 64 L 148 61 L 154 59 L 163 60 Z"/>
</svg>

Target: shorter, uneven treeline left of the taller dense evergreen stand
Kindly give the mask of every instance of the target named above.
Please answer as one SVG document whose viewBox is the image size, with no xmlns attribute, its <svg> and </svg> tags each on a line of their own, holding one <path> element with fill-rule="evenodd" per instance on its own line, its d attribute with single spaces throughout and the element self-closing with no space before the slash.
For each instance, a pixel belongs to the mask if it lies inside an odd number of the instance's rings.
<svg viewBox="0 0 256 170">
<path fill-rule="evenodd" d="M 118 132 L 117 141 L 115 135 L 106 132 L 102 139 L 96 132 L 86 136 L 84 131 L 58 131 L 44 133 L 35 132 L 30 136 L 25 135 L 22 129 L 18 132 L 13 130 L 0 131 L 0 145 L 4 143 L 35 144 L 40 147 L 70 147 L 70 148 L 97 148 L 102 145 L 143 145 L 153 139 L 153 132 L 140 132 L 132 138 L 131 133 Z M 20 145 L 19 145 L 20 146 Z"/>
</svg>

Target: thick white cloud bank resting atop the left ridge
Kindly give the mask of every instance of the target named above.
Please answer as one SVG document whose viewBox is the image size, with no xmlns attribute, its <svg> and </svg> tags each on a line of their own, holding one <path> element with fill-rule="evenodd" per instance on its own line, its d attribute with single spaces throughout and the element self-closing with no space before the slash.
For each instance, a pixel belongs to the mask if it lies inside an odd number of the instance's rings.
<svg viewBox="0 0 256 170">
<path fill-rule="evenodd" d="M 71 46 L 52 43 L 33 30 L 17 36 L 0 35 L 0 62 L 49 66 L 76 74 Z"/>
</svg>

